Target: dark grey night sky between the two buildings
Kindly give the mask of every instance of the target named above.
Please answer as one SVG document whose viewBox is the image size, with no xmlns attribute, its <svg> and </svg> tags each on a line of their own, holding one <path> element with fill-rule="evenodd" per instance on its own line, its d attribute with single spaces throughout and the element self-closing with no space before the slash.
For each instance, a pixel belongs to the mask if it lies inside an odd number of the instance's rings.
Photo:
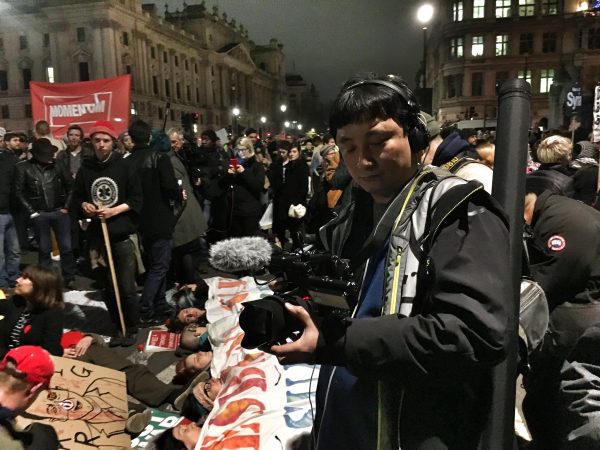
<svg viewBox="0 0 600 450">
<path fill-rule="evenodd" d="M 169 11 L 183 1 L 167 0 Z M 163 9 L 164 0 L 155 3 Z M 324 102 L 360 71 L 397 73 L 414 87 L 423 52 L 418 0 L 206 0 L 209 11 L 214 4 L 257 44 L 283 43 L 287 72 L 313 83 Z"/>
</svg>

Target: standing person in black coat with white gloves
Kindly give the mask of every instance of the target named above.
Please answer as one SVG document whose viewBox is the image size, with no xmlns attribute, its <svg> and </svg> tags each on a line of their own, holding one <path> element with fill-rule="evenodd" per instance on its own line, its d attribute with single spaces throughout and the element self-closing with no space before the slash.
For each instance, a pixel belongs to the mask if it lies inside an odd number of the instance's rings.
<svg viewBox="0 0 600 450">
<path fill-rule="evenodd" d="M 309 168 L 298 144 L 281 141 L 278 146 L 281 159 L 274 164 L 269 176 L 273 190 L 273 234 L 283 246 L 285 232 L 289 230 L 292 248 L 296 249 L 302 246 L 299 229 L 303 218 L 290 217 L 289 212 L 292 205 L 306 207 Z"/>
</svg>

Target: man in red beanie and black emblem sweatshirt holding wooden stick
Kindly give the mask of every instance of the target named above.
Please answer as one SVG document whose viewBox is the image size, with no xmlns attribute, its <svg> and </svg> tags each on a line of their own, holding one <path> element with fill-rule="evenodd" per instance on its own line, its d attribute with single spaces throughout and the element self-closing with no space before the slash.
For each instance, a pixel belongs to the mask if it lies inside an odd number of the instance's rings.
<svg viewBox="0 0 600 450">
<path fill-rule="evenodd" d="M 90 138 L 94 157 L 85 159 L 77 172 L 71 210 L 92 218 L 90 246 L 100 249 L 109 266 L 108 286 L 113 289 L 107 290 L 105 302 L 113 323 L 121 330 L 111 345 L 129 346 L 135 342 L 139 320 L 135 244 L 130 235 L 137 231 L 142 188 L 135 170 L 113 151 L 118 134 L 109 122 L 96 122 Z M 108 239 L 103 236 L 104 223 Z"/>
</svg>

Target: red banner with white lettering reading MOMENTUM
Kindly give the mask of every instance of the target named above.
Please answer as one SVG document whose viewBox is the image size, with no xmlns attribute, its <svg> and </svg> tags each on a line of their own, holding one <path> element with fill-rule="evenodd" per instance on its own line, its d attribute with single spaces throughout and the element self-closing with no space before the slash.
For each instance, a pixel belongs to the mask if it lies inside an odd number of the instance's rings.
<svg viewBox="0 0 600 450">
<path fill-rule="evenodd" d="M 52 134 L 62 138 L 69 125 L 79 125 L 85 134 L 98 120 L 113 124 L 117 133 L 129 126 L 131 75 L 80 83 L 32 81 L 33 122 L 45 120 Z"/>
</svg>

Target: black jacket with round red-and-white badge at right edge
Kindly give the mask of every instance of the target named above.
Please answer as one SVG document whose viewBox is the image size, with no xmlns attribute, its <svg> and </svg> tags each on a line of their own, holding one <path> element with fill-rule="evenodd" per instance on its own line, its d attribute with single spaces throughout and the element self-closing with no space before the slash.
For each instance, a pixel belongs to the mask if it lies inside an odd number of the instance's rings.
<svg viewBox="0 0 600 450">
<path fill-rule="evenodd" d="M 600 212 L 544 192 L 538 196 L 528 241 L 531 276 L 550 310 L 565 301 L 600 300 Z"/>
</svg>

